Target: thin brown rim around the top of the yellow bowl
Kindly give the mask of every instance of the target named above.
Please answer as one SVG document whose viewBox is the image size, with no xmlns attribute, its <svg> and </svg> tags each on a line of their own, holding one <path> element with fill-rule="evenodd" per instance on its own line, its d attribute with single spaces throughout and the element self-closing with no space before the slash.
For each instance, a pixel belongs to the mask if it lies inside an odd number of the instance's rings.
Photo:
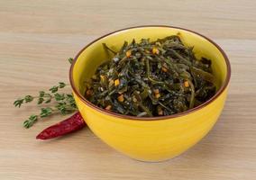
<svg viewBox="0 0 256 180">
<path fill-rule="evenodd" d="M 118 33 L 120 31 L 127 31 L 127 30 L 140 29 L 140 28 L 158 28 L 158 27 L 159 28 L 172 28 L 172 29 L 178 29 L 178 30 L 183 30 L 183 31 L 188 31 L 188 32 L 195 33 L 198 36 L 201 36 L 202 38 L 204 38 L 205 40 L 208 40 L 210 43 L 212 43 L 221 52 L 222 56 L 224 57 L 225 65 L 226 65 L 226 68 L 227 68 L 226 69 L 227 70 L 227 76 L 226 76 L 226 78 L 224 80 L 224 84 L 220 87 L 220 89 L 216 92 L 216 94 L 213 97 L 208 99 L 205 103 L 202 103 L 202 104 L 198 105 L 197 107 L 189 109 L 189 110 L 187 110 L 185 112 L 178 112 L 178 113 L 175 113 L 175 114 L 172 114 L 172 115 L 166 115 L 166 116 L 137 117 L 137 116 L 132 116 L 132 115 L 123 115 L 123 114 L 120 114 L 120 113 L 110 112 L 110 111 L 107 111 L 105 109 L 102 109 L 102 108 L 96 106 L 95 104 L 90 103 L 82 94 L 79 93 L 78 89 L 74 85 L 73 68 L 74 68 L 74 66 L 76 64 L 76 61 L 77 61 L 78 57 L 80 56 L 80 54 L 85 49 L 87 49 L 90 45 L 95 43 L 97 40 L 101 40 L 101 39 L 103 39 L 103 38 L 105 38 L 105 37 L 107 37 L 109 35 L 112 35 L 114 33 Z M 114 116 L 114 117 L 120 118 L 120 119 L 137 120 L 137 121 L 168 120 L 168 119 L 173 119 L 173 118 L 177 118 L 177 117 L 180 117 L 180 116 L 185 116 L 185 115 L 190 114 L 192 112 L 197 112 L 198 110 L 206 107 L 208 104 L 214 102 L 217 97 L 219 97 L 221 94 L 223 94 L 224 90 L 229 85 L 230 77 L 231 77 L 231 65 L 230 65 L 229 59 L 227 58 L 226 54 L 224 53 L 224 50 L 221 49 L 221 47 L 219 45 L 217 45 L 214 40 L 211 40 L 211 39 L 207 38 L 205 35 L 202 35 L 202 34 L 198 33 L 197 31 L 191 31 L 191 30 L 188 30 L 188 29 L 185 29 L 185 28 L 180 28 L 180 27 L 170 26 L 170 25 L 141 25 L 141 26 L 133 26 L 133 27 L 128 27 L 128 28 L 124 28 L 124 29 L 121 29 L 121 30 L 117 30 L 117 31 L 112 31 L 112 32 L 106 33 L 105 35 L 100 36 L 96 40 L 91 41 L 83 49 L 81 49 L 78 52 L 77 56 L 72 61 L 71 67 L 69 68 L 69 81 L 70 81 L 71 88 L 73 90 L 73 93 L 76 94 L 78 96 L 78 98 L 83 103 L 86 103 L 87 106 L 93 108 L 97 112 L 103 112 L 103 113 L 105 113 L 107 115 Z"/>
</svg>

